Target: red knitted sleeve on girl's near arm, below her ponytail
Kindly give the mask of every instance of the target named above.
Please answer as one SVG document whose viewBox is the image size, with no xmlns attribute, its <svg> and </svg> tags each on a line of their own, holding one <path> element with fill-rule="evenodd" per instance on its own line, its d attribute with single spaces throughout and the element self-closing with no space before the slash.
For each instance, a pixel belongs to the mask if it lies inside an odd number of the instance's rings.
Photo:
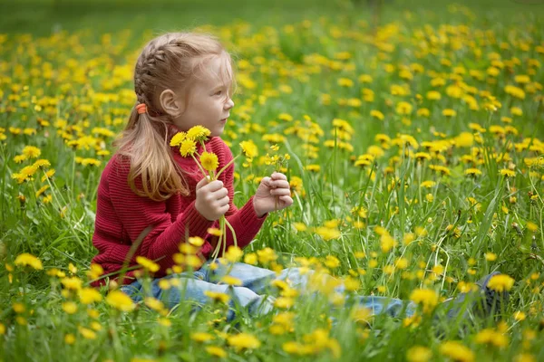
<svg viewBox="0 0 544 362">
<path fill-rule="evenodd" d="M 117 161 L 108 176 L 113 208 L 132 243 L 148 226 L 152 226 L 151 232 L 143 238 L 135 254 L 157 261 L 160 271 L 155 275 L 165 275 L 166 270 L 174 264 L 172 255 L 179 252 L 179 244 L 186 236 L 206 237 L 213 222 L 199 214 L 194 202 L 177 219 L 172 220 L 166 210 L 166 202 L 153 201 L 131 190 L 128 184 L 129 170 L 128 163 Z M 136 180 L 136 186 L 141 187 L 141 178 Z"/>
</svg>

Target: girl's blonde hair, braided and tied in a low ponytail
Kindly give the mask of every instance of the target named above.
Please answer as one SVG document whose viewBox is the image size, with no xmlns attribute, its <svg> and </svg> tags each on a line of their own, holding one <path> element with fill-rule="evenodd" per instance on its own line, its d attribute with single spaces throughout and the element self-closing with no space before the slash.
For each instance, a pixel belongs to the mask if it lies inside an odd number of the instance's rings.
<svg viewBox="0 0 544 362">
<path fill-rule="evenodd" d="M 174 90 L 189 100 L 189 87 L 206 68 L 209 60 L 221 60 L 220 81 L 233 84 L 230 55 L 219 41 L 208 34 L 165 33 L 143 48 L 134 68 L 134 90 L 138 103 L 147 112 L 138 114 L 136 105 L 129 122 L 115 141 L 117 153 L 130 160 L 128 182 L 141 196 L 163 201 L 171 195 L 189 195 L 182 170 L 175 162 L 169 145 L 172 117 L 160 106 L 160 93 Z M 181 93 L 179 93 L 181 92 Z M 141 188 L 135 180 L 141 177 Z"/>
</svg>

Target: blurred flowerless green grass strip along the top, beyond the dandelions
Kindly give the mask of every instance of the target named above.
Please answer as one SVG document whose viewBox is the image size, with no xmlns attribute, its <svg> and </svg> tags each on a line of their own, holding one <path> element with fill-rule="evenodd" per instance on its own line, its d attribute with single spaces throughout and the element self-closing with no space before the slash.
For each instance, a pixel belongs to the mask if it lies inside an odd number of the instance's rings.
<svg viewBox="0 0 544 362">
<path fill-rule="evenodd" d="M 436 24 L 449 22 L 448 12 L 441 10 L 453 4 L 475 10 L 478 23 L 492 28 L 520 22 L 521 15 L 529 15 L 537 24 L 542 24 L 544 18 L 544 0 L 3 0 L 0 1 L 4 14 L 0 32 L 46 35 L 81 28 L 104 33 L 126 28 L 161 32 L 200 24 L 230 24 L 236 20 L 263 25 L 287 24 L 321 15 L 339 16 L 341 22 L 345 16 L 372 19 L 375 9 L 380 7 L 380 22 L 393 21 L 398 19 L 399 13 L 411 11 L 424 14 L 429 24 Z"/>
</svg>

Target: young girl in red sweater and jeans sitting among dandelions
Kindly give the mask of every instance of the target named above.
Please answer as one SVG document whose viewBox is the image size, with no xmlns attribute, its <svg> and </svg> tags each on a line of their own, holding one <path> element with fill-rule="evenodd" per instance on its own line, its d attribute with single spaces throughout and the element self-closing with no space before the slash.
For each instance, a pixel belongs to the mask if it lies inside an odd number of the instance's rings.
<svg viewBox="0 0 544 362">
<path fill-rule="evenodd" d="M 238 246 L 251 242 L 269 212 L 293 204 L 287 177 L 273 173 L 264 177 L 257 192 L 238 209 L 233 204 L 234 165 L 218 180 L 203 178 L 191 157 L 181 157 L 179 148 L 170 147 L 170 138 L 193 126 L 211 131 L 206 144 L 219 158 L 219 169 L 228 165 L 232 154 L 219 138 L 234 107 L 230 99 L 233 83 L 231 60 L 221 44 L 208 35 L 166 33 L 148 43 L 134 70 L 134 89 L 138 104 L 122 137 L 118 150 L 104 168 L 98 188 L 95 232 L 92 243 L 98 254 L 92 262 L 100 264 L 104 274 L 112 274 L 110 282 L 121 284 L 121 290 L 133 300 L 142 294 L 160 299 L 168 307 L 180 300 L 200 304 L 209 301 L 210 293 L 229 292 L 231 305 L 247 308 L 250 313 L 272 309 L 272 301 L 262 295 L 275 278 L 290 282 L 304 290 L 312 272 L 297 268 L 274 271 L 235 263 L 226 268 L 212 268 L 209 259 L 214 249 L 210 227 L 218 225 L 225 215 L 236 233 Z M 201 153 L 201 147 L 197 148 Z M 173 255 L 180 243 L 199 236 L 204 240 L 199 256 L 204 262 L 194 272 L 174 273 Z M 228 232 L 227 245 L 233 244 Z M 143 256 L 159 264 L 154 272 L 151 291 L 136 278 L 136 258 Z M 132 269 L 123 274 L 122 269 Z M 241 285 L 218 283 L 227 273 Z M 182 281 L 182 288 L 163 293 L 160 281 Z M 93 282 L 100 286 L 106 278 Z M 337 291 L 343 291 L 342 286 Z M 360 297 L 359 302 L 374 310 L 396 315 L 414 311 L 413 304 L 383 297 Z M 233 309 L 228 319 L 234 317 Z"/>
</svg>

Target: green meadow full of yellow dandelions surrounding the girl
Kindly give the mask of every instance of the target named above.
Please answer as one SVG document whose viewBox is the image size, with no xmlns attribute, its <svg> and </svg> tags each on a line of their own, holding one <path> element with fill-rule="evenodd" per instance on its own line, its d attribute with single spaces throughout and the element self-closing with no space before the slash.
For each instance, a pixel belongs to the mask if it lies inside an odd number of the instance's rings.
<svg viewBox="0 0 544 362">
<path fill-rule="evenodd" d="M 386 2 L 377 24 L 350 4 L 191 29 L 236 65 L 222 136 L 240 155 L 235 203 L 275 170 L 295 200 L 223 261 L 346 289 L 310 285 L 308 299 L 276 283 L 275 313 L 232 322 L 228 294 L 195 314 L 89 286 L 98 182 L 136 58 L 164 26 L 0 32 L 0 361 L 544 360 L 542 18 Z M 441 302 L 492 271 L 510 291 L 497 318 L 444 320 Z M 418 311 L 372 315 L 358 294 Z"/>
</svg>

